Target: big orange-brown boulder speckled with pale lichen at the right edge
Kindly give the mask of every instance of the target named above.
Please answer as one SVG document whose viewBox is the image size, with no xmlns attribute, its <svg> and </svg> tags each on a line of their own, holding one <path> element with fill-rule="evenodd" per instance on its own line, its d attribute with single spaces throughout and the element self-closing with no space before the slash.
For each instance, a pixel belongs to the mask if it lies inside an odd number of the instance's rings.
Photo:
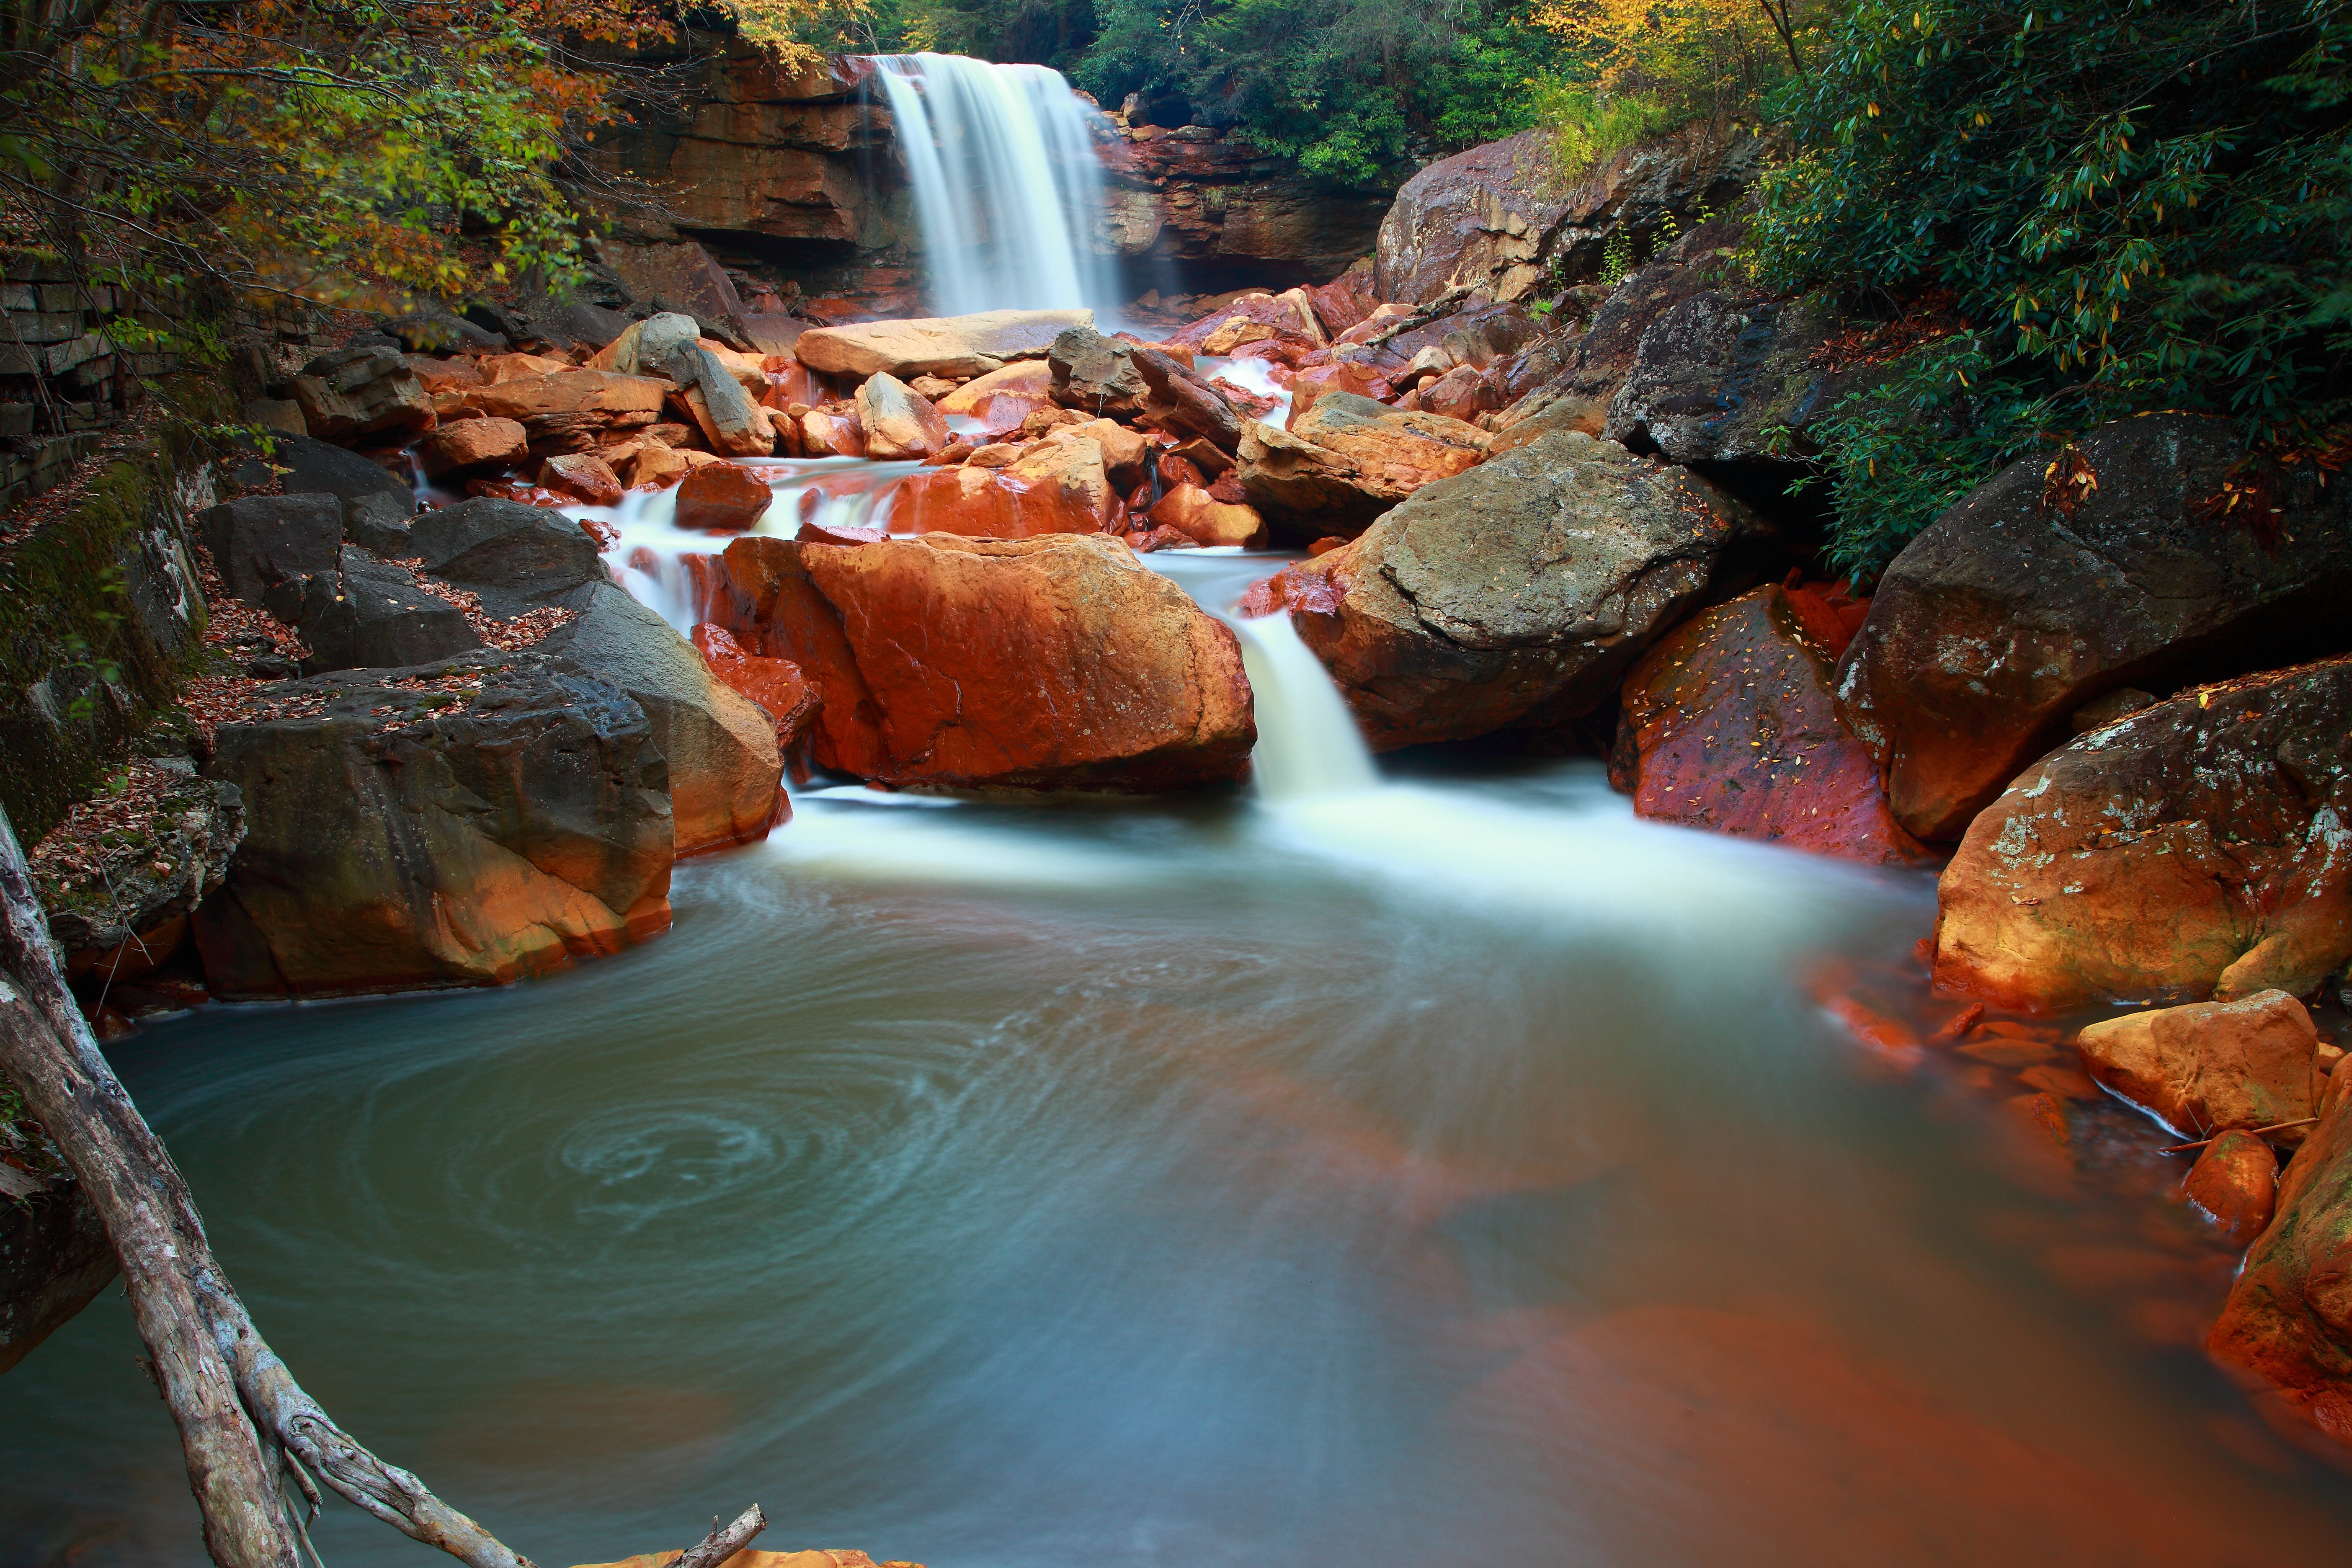
<svg viewBox="0 0 2352 1568">
<path fill-rule="evenodd" d="M 2352 959 L 2347 820 L 2352 658 L 2185 691 L 1978 813 L 1936 891 L 1936 980 L 2023 1009 L 2307 994 Z"/>
</svg>

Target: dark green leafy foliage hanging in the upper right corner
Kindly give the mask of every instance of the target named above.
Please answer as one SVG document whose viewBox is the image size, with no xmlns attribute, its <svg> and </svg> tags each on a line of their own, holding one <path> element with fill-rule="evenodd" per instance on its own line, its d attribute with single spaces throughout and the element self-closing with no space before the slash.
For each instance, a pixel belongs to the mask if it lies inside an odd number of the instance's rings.
<svg viewBox="0 0 2352 1568">
<path fill-rule="evenodd" d="M 1971 334 L 1825 433 L 1844 562 L 1884 562 L 2030 433 L 2180 407 L 2293 444 L 2352 414 L 2347 45 L 2343 0 L 1846 7 L 1783 92 L 1802 153 L 1752 263 L 1950 289 Z"/>
</svg>

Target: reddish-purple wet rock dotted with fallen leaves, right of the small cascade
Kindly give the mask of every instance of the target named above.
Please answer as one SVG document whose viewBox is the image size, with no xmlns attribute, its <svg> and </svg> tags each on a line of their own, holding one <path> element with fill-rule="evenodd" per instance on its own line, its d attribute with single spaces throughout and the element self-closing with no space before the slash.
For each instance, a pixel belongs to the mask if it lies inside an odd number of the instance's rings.
<svg viewBox="0 0 2352 1568">
<path fill-rule="evenodd" d="M 1867 863 L 1917 863 L 1870 752 L 1837 722 L 1835 649 L 1783 588 L 1677 625 L 1625 675 L 1611 776 L 1646 818 Z"/>
</svg>

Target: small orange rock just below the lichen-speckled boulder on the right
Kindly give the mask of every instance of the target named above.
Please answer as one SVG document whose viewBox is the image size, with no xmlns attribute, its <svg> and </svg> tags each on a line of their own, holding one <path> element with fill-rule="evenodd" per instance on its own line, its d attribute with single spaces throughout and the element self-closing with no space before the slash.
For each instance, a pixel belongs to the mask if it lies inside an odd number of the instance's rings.
<svg viewBox="0 0 2352 1568">
<path fill-rule="evenodd" d="M 2074 1037 L 2100 1088 L 2183 1138 L 2312 1114 L 2312 1016 L 2286 992 L 2103 1018 Z M 2303 1143 L 2300 1128 L 2274 1133 Z"/>
</svg>

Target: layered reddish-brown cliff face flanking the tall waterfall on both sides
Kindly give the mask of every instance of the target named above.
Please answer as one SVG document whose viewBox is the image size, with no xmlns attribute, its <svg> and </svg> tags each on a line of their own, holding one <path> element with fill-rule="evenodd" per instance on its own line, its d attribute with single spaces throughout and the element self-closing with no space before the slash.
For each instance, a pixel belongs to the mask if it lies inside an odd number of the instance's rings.
<svg viewBox="0 0 2352 1568">
<path fill-rule="evenodd" d="M 673 101 L 600 136 L 609 174 L 642 181 L 668 216 L 616 212 L 623 240 L 696 237 L 774 268 L 811 294 L 906 292 L 920 228 L 896 127 L 873 63 L 830 56 L 779 71 L 757 49 L 689 35 Z M 1131 261 L 1134 289 L 1284 284 L 1367 256 L 1385 193 L 1348 193 L 1200 125 L 1101 134 L 1098 242 Z"/>
</svg>

